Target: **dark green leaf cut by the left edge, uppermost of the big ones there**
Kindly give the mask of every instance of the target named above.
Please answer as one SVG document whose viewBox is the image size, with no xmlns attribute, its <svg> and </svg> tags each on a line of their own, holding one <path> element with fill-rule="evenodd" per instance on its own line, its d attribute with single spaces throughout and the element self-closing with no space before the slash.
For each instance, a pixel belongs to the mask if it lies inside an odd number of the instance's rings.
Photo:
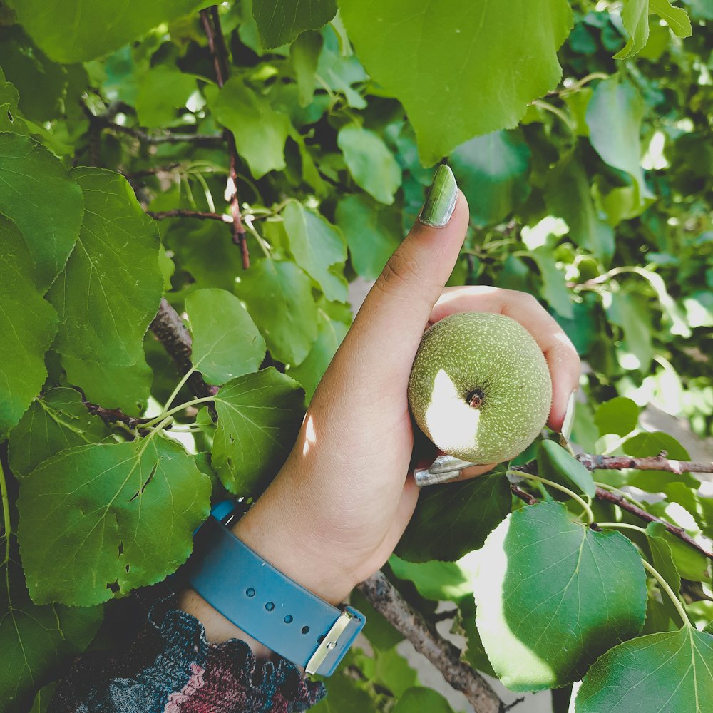
<svg viewBox="0 0 713 713">
<path fill-rule="evenodd" d="M 72 252 L 82 205 L 81 188 L 58 158 L 31 138 L 0 133 L 0 212 L 21 230 L 42 292 Z"/>
</svg>

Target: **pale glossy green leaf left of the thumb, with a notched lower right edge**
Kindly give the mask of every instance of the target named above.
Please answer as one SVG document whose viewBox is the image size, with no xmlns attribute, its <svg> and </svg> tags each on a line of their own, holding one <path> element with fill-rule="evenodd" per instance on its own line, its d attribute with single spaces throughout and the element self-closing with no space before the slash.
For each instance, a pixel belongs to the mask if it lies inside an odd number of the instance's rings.
<svg viewBox="0 0 713 713">
<path fill-rule="evenodd" d="M 347 244 L 342 232 L 319 213 L 291 200 L 284 211 L 284 229 L 289 237 L 289 250 L 307 275 L 322 288 L 332 302 L 347 301 L 344 262 Z"/>
</svg>

